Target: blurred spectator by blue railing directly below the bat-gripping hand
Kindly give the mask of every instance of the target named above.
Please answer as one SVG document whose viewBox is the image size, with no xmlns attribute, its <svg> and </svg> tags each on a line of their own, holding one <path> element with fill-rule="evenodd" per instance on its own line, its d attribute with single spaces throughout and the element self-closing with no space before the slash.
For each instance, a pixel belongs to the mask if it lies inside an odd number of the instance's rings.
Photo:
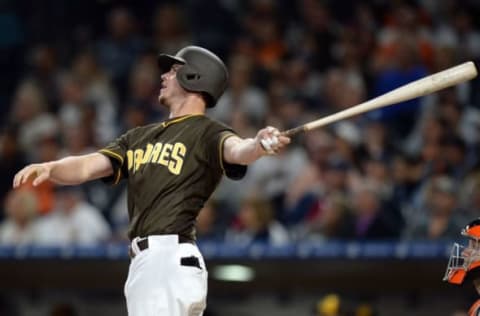
<svg viewBox="0 0 480 316">
<path fill-rule="evenodd" d="M 275 220 L 270 203 L 258 197 L 242 202 L 238 218 L 227 231 L 226 242 L 249 245 L 266 242 L 270 245 L 285 245 L 289 241 L 286 229 Z"/>
</svg>

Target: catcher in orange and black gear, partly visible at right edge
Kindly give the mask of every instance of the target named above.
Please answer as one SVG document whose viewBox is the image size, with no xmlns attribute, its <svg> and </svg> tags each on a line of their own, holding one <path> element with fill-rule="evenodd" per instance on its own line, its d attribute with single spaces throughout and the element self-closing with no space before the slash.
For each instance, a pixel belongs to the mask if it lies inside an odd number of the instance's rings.
<svg viewBox="0 0 480 316">
<path fill-rule="evenodd" d="M 480 294 L 480 218 L 470 222 L 462 230 L 462 235 L 469 239 L 468 245 L 453 245 L 443 280 L 461 285 L 468 279 Z M 468 316 L 480 316 L 480 299 L 470 307 Z"/>
</svg>

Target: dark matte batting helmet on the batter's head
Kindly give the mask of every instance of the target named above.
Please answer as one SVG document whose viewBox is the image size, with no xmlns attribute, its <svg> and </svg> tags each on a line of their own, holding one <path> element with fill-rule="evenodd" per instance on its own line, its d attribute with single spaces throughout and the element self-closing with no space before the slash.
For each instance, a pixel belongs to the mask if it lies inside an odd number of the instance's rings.
<svg viewBox="0 0 480 316">
<path fill-rule="evenodd" d="M 203 93 L 207 107 L 215 106 L 227 87 L 228 71 L 223 61 L 211 51 L 198 46 L 182 48 L 175 56 L 158 56 L 162 74 L 174 64 L 184 65 L 177 71 L 178 83 L 185 90 Z"/>
</svg>

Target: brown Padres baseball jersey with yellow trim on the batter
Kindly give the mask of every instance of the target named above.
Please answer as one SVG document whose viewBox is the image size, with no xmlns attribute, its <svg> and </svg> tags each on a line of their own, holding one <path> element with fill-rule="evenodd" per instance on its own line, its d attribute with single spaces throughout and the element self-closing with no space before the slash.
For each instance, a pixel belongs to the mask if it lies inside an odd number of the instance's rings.
<svg viewBox="0 0 480 316">
<path fill-rule="evenodd" d="M 128 237 L 194 240 L 195 219 L 222 175 L 245 175 L 246 166 L 223 159 L 224 141 L 232 135 L 205 115 L 186 115 L 134 128 L 101 149 L 113 167 L 104 181 L 128 181 Z"/>
</svg>

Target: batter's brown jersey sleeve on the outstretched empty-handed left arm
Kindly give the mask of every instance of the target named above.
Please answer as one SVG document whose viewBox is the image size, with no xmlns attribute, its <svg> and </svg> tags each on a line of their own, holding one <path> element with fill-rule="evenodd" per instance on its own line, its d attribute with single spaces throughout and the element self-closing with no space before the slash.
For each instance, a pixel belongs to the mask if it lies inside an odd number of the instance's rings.
<svg viewBox="0 0 480 316">
<path fill-rule="evenodd" d="M 127 150 L 128 133 L 118 137 L 98 152 L 110 159 L 113 175 L 105 177 L 102 181 L 109 184 L 117 184 L 122 178 L 128 178 Z"/>
</svg>

